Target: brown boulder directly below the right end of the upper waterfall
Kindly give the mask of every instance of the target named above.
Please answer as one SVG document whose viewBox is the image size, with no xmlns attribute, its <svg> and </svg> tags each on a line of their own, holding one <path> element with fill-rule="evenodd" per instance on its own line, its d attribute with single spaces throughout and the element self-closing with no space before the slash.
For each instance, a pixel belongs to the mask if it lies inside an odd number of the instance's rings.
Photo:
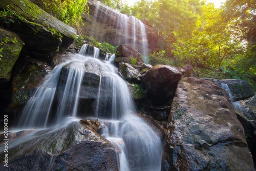
<svg viewBox="0 0 256 171">
<path fill-rule="evenodd" d="M 128 64 L 132 63 L 132 59 L 136 59 L 136 64 L 141 64 L 142 57 L 140 53 L 131 46 L 128 45 L 120 45 L 117 47 L 115 63 L 119 64 L 120 62 L 126 62 Z"/>
</svg>

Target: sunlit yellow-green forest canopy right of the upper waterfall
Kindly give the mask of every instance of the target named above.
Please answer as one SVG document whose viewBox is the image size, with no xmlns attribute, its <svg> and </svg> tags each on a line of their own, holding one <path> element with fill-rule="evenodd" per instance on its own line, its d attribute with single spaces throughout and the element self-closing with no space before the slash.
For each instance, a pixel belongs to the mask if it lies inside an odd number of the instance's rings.
<svg viewBox="0 0 256 171">
<path fill-rule="evenodd" d="M 256 84 L 256 1 L 227 0 L 220 8 L 206 0 L 140 0 L 119 6 L 124 14 L 146 18 L 163 39 L 161 49 L 149 55 L 151 64 L 190 64 L 198 77 Z"/>
</svg>

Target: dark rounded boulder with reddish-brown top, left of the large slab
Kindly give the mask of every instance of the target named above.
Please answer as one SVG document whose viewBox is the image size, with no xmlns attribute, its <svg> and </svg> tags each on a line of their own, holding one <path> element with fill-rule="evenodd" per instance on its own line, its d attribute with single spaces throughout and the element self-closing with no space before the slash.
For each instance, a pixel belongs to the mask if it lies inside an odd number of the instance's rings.
<svg viewBox="0 0 256 171">
<path fill-rule="evenodd" d="M 181 77 L 182 73 L 176 67 L 157 65 L 149 69 L 141 80 L 143 88 L 151 96 L 150 99 L 161 104 L 174 96 Z"/>
</svg>

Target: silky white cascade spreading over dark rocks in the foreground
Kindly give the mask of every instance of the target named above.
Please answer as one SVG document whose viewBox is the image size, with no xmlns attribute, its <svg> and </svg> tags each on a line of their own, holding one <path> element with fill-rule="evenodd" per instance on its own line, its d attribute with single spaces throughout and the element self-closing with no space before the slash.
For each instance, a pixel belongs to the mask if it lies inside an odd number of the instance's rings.
<svg viewBox="0 0 256 171">
<path fill-rule="evenodd" d="M 101 135 L 121 151 L 119 170 L 160 171 L 163 150 L 160 136 L 140 116 L 134 114 L 136 109 L 127 84 L 115 73 L 113 65 L 109 62 L 113 61 L 114 56 L 103 63 L 96 59 L 95 49 L 94 55 L 84 57 L 84 54 L 90 52 L 87 48 L 87 45 L 81 48 L 80 54 L 83 56 L 74 55 L 54 68 L 45 83 L 38 88 L 35 96 L 26 104 L 18 127 L 48 128 L 49 115 L 54 106 L 53 99 L 57 94 L 58 81 L 64 67 L 69 69 L 67 79 L 55 112 L 55 122 L 51 124 L 60 125 L 67 122 L 66 119 L 70 116 L 77 117 L 84 72 L 89 66 L 87 63 L 92 62 L 100 75 L 93 108 L 96 117 L 104 123 Z"/>
</svg>

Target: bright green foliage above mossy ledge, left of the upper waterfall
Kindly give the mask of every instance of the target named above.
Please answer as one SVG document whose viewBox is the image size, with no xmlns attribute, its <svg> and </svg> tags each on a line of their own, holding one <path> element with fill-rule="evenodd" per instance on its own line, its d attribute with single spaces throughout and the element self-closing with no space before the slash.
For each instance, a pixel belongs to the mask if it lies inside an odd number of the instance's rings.
<svg viewBox="0 0 256 171">
<path fill-rule="evenodd" d="M 79 32 L 82 24 L 81 14 L 88 12 L 87 0 L 43 0 L 44 10 L 67 25 L 76 27 Z"/>
</svg>

